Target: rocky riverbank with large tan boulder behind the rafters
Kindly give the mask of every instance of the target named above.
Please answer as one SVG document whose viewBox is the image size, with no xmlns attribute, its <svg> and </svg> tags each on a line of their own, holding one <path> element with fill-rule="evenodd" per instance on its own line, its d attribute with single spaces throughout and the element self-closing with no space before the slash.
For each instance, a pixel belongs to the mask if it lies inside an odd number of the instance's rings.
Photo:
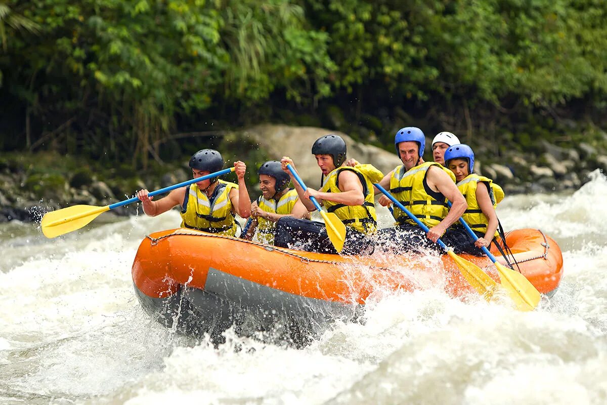
<svg viewBox="0 0 607 405">
<path fill-rule="evenodd" d="M 308 185 L 320 180 L 310 147 L 316 138 L 335 133 L 344 136 L 348 157 L 370 162 L 384 172 L 399 164 L 392 150 L 356 142 L 348 135 L 322 128 L 260 125 L 242 131 L 222 132 L 219 149 L 224 158 L 249 166 L 251 196 L 257 196 L 256 166 L 264 160 L 288 155 Z M 426 134 L 426 150 L 434 134 Z M 466 137 L 460 137 L 467 141 Z M 607 134 L 599 132 L 588 142 L 532 141 L 527 145 L 497 145 L 487 139 L 467 141 L 475 149 L 476 171 L 494 179 L 507 194 L 574 190 L 589 180 L 595 169 L 607 172 Z M 201 142 L 200 148 L 205 145 Z M 131 165 L 107 168 L 97 162 L 51 152 L 0 155 L 0 222 L 39 221 L 47 211 L 77 204 L 104 206 L 131 198 L 141 188 L 166 187 L 189 179 L 187 161 L 194 151 L 181 151 L 174 162 L 155 162 L 147 171 Z M 430 159 L 430 152 L 426 158 Z M 227 180 L 235 181 L 231 177 Z M 137 204 L 114 210 L 118 215 L 137 211 Z"/>
</svg>

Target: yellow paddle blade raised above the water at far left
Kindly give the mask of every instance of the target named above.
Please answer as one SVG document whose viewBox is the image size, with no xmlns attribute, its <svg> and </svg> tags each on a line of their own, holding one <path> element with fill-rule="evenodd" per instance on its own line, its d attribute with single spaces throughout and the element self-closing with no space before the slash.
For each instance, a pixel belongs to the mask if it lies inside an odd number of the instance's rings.
<svg viewBox="0 0 607 405">
<path fill-rule="evenodd" d="M 109 209 L 109 205 L 74 205 L 51 211 L 42 217 L 42 233 L 50 239 L 78 230 Z"/>
</svg>

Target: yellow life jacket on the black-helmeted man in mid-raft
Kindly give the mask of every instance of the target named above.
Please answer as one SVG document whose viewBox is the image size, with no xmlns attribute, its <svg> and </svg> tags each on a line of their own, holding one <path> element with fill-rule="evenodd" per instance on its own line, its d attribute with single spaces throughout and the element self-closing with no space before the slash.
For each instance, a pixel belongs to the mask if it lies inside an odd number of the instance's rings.
<svg viewBox="0 0 607 405">
<path fill-rule="evenodd" d="M 320 191 L 342 192 L 339 189 L 339 174 L 344 170 L 353 171 L 358 175 L 359 180 L 361 180 L 362 194 L 365 196 L 365 202 L 362 205 L 345 205 L 324 200 L 324 205 L 327 211 L 335 213 L 344 225 L 351 226 L 364 234 L 373 233 L 377 230 L 377 216 L 375 214 L 375 192 L 373 192 L 373 182 L 371 182 L 371 179 L 376 180 L 379 177 L 381 180 L 382 173 L 372 165 L 341 166 L 327 175 Z"/>
</svg>

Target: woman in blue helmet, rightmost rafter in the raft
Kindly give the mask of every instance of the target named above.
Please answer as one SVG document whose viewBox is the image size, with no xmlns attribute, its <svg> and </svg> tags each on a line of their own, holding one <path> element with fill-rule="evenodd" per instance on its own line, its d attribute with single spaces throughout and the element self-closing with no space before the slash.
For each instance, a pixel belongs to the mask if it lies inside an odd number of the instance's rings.
<svg viewBox="0 0 607 405">
<path fill-rule="evenodd" d="M 489 248 L 493 237 L 497 236 L 499 222 L 495 206 L 504 198 L 504 191 L 488 177 L 472 172 L 474 152 L 470 146 L 450 146 L 445 151 L 444 159 L 445 166 L 455 174 L 459 191 L 466 197 L 468 208 L 462 217 L 477 236 L 476 240 L 469 239 L 469 243 L 461 248 L 467 253 L 483 256 L 480 248 Z"/>
</svg>

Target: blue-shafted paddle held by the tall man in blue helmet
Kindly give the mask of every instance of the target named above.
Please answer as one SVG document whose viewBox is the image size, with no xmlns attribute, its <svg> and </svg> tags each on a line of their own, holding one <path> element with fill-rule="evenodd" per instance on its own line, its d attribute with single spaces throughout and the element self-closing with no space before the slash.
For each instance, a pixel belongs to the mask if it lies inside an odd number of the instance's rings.
<svg viewBox="0 0 607 405">
<path fill-rule="evenodd" d="M 400 208 L 402 212 L 404 212 L 412 220 L 414 220 L 415 223 L 417 223 L 422 228 L 422 230 L 426 232 L 429 231 L 429 228 L 424 225 L 424 223 L 422 223 L 415 215 L 410 213 L 410 211 L 405 208 L 404 205 L 402 205 L 398 200 L 396 200 L 392 196 L 392 194 L 386 191 L 385 188 L 383 188 L 378 183 L 375 183 L 375 186 L 378 188 L 379 191 L 384 194 L 384 196 L 388 197 L 388 199 L 390 199 L 394 203 L 394 205 L 398 206 L 398 208 Z M 455 263 L 459 267 L 459 271 L 467 280 L 467 282 L 469 282 L 470 285 L 472 285 L 472 287 L 474 287 L 479 294 L 481 294 L 487 301 L 489 301 L 493 296 L 493 291 L 497 286 L 497 282 L 493 281 L 493 279 L 489 277 L 487 273 L 481 270 L 481 268 L 477 265 L 453 253 L 453 250 L 447 248 L 447 245 L 445 245 L 442 240 L 438 239 L 436 240 L 436 243 L 438 243 L 444 250 L 446 250 L 447 254 L 449 254 L 453 261 L 455 261 Z"/>
</svg>

